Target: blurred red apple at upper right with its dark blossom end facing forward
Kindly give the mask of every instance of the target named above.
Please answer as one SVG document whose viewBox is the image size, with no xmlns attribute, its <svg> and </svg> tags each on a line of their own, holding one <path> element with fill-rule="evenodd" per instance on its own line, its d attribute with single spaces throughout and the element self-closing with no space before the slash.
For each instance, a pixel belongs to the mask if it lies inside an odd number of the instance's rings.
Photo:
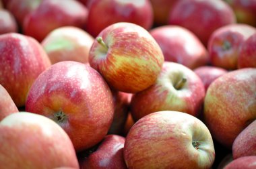
<svg viewBox="0 0 256 169">
<path fill-rule="evenodd" d="M 255 33 L 255 27 L 243 23 L 225 25 L 215 30 L 207 45 L 210 64 L 228 70 L 237 69 L 241 46 Z"/>
</svg>

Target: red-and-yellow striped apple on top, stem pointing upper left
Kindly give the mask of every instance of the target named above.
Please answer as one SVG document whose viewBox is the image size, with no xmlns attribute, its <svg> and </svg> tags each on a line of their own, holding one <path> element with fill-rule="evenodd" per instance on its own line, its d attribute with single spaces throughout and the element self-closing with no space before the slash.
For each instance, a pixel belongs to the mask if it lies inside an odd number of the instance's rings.
<svg viewBox="0 0 256 169">
<path fill-rule="evenodd" d="M 111 89 L 136 93 L 152 85 L 161 71 L 164 56 L 150 33 L 134 23 L 109 25 L 96 37 L 89 63 Z"/>
</svg>

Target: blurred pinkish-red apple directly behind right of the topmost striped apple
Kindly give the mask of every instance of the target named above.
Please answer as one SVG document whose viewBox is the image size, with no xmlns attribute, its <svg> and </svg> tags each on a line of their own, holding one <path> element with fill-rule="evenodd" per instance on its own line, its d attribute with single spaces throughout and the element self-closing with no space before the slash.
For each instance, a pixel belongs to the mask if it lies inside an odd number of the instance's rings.
<svg viewBox="0 0 256 169">
<path fill-rule="evenodd" d="M 183 64 L 188 68 L 197 68 L 208 62 L 208 53 L 201 41 L 185 27 L 163 25 L 150 30 L 158 42 L 164 60 Z"/>
</svg>

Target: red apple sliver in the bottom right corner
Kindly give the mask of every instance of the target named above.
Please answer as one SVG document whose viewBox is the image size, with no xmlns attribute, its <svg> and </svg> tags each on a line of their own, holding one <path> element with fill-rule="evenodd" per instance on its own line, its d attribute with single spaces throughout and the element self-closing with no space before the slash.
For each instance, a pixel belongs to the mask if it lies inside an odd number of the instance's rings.
<svg viewBox="0 0 256 169">
<path fill-rule="evenodd" d="M 256 156 L 244 156 L 228 163 L 224 169 L 254 169 L 256 168 Z"/>
</svg>

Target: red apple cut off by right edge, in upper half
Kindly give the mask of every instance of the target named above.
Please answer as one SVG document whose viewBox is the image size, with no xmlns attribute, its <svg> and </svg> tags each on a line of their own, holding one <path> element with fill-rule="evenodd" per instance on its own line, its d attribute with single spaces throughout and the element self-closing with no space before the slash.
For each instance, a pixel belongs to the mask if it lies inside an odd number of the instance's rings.
<svg viewBox="0 0 256 169">
<path fill-rule="evenodd" d="M 256 33 L 249 36 L 249 38 L 241 44 L 237 64 L 238 68 L 256 68 Z"/>
</svg>

